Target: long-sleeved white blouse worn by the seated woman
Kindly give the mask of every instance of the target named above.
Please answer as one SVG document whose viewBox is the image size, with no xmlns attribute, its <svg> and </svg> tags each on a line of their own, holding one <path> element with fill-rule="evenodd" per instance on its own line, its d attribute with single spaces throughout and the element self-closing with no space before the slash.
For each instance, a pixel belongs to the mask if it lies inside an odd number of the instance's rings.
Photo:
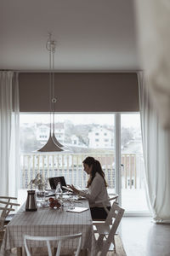
<svg viewBox="0 0 170 256">
<path fill-rule="evenodd" d="M 80 191 L 79 195 L 88 199 L 90 207 L 103 207 L 101 203 L 95 203 L 96 201 L 105 201 L 104 204 L 106 207 L 111 206 L 109 195 L 105 187 L 105 181 L 98 172 L 96 172 L 94 180 L 89 186 L 88 191 Z"/>
</svg>

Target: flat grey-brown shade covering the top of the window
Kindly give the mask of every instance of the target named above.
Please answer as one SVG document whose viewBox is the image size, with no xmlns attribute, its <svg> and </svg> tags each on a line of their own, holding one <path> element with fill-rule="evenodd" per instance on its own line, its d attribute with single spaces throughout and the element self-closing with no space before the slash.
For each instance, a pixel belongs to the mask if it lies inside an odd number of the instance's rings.
<svg viewBox="0 0 170 256">
<path fill-rule="evenodd" d="M 48 112 L 48 73 L 20 73 L 20 112 Z M 136 73 L 55 73 L 58 112 L 138 112 Z"/>
</svg>

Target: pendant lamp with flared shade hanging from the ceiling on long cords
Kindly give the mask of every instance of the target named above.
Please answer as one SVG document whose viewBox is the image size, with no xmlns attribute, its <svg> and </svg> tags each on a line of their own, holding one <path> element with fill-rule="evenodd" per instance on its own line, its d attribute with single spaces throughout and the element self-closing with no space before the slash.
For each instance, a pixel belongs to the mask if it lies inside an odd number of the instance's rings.
<svg viewBox="0 0 170 256">
<path fill-rule="evenodd" d="M 50 108 L 50 131 L 48 142 L 39 150 L 40 152 L 54 152 L 54 151 L 64 151 L 63 145 L 58 142 L 55 137 L 55 127 L 54 127 L 54 114 L 55 108 L 54 104 L 57 102 L 54 96 L 54 53 L 56 48 L 56 41 L 52 39 L 52 34 L 48 34 L 48 41 L 46 48 L 49 52 L 49 108 Z"/>
</svg>

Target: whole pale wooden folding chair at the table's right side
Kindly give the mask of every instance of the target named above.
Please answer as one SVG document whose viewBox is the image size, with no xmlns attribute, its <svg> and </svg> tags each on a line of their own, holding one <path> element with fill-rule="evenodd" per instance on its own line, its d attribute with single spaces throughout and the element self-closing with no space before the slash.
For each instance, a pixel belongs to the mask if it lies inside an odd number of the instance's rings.
<svg viewBox="0 0 170 256">
<path fill-rule="evenodd" d="M 99 251 L 101 252 L 100 256 L 106 255 L 106 253 L 109 251 L 111 247 L 111 244 L 114 245 L 114 251 L 116 253 L 115 235 L 118 225 L 121 222 L 124 211 L 124 209 L 119 207 L 117 203 L 114 202 L 107 218 L 105 219 L 105 222 L 94 224 L 96 227 L 94 233 L 99 234 L 97 243 L 99 246 Z"/>
</svg>

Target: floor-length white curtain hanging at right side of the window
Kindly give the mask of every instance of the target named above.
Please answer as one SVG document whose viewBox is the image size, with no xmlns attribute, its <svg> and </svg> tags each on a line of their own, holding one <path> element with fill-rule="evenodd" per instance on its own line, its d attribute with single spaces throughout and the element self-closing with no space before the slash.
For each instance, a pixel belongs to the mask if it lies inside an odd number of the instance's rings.
<svg viewBox="0 0 170 256">
<path fill-rule="evenodd" d="M 161 127 L 144 73 L 138 73 L 147 194 L 156 223 L 170 223 L 170 131 Z"/>
</svg>

